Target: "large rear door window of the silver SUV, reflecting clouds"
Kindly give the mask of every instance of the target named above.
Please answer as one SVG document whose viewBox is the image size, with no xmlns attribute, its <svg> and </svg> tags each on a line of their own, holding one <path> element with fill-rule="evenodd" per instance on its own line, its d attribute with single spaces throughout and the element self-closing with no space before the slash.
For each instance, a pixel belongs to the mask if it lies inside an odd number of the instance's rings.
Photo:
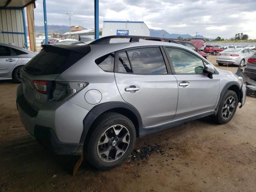
<svg viewBox="0 0 256 192">
<path fill-rule="evenodd" d="M 167 74 L 166 65 L 160 48 L 140 48 L 128 50 L 133 73 Z"/>
</svg>

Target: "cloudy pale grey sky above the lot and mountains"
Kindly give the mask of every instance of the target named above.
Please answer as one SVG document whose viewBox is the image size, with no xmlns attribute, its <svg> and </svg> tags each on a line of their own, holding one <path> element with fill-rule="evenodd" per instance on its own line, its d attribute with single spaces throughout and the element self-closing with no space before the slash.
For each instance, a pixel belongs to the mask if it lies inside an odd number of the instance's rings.
<svg viewBox="0 0 256 192">
<path fill-rule="evenodd" d="M 44 25 L 42 0 L 36 0 L 35 25 Z M 143 21 L 169 33 L 256 39 L 256 0 L 99 0 L 99 20 Z M 65 12 L 76 13 L 71 25 L 94 28 L 94 0 L 46 0 L 48 25 L 69 25 Z"/>
</svg>

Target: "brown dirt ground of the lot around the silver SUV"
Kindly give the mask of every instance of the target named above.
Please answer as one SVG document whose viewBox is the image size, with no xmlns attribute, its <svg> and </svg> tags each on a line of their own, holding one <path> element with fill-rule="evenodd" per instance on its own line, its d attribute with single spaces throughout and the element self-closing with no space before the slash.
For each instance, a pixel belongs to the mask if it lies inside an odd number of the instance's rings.
<svg viewBox="0 0 256 192">
<path fill-rule="evenodd" d="M 216 64 L 215 58 L 209 60 Z M 255 97 L 247 96 L 228 124 L 202 118 L 137 139 L 135 149 L 160 146 L 148 159 L 129 159 L 109 171 L 83 162 L 72 176 L 77 157 L 51 154 L 26 133 L 16 110 L 17 86 L 0 82 L 1 192 L 256 191 Z"/>
</svg>

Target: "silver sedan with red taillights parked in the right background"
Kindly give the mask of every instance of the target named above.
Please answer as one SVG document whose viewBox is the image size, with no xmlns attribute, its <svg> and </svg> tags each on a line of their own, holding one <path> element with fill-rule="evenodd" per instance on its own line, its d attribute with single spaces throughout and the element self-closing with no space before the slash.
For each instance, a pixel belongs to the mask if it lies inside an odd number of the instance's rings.
<svg viewBox="0 0 256 192">
<path fill-rule="evenodd" d="M 219 66 L 223 64 L 232 64 L 242 67 L 246 65 L 247 59 L 254 54 L 253 50 L 247 48 L 226 49 L 218 53 L 216 62 Z"/>
</svg>

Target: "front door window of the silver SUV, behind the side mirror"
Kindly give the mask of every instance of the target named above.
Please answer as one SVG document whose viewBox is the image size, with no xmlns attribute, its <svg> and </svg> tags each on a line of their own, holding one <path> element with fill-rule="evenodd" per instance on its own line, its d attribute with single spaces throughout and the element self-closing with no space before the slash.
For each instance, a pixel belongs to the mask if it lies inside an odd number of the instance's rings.
<svg viewBox="0 0 256 192">
<path fill-rule="evenodd" d="M 166 48 L 176 74 L 202 74 L 203 61 L 194 54 L 181 49 Z"/>
</svg>

